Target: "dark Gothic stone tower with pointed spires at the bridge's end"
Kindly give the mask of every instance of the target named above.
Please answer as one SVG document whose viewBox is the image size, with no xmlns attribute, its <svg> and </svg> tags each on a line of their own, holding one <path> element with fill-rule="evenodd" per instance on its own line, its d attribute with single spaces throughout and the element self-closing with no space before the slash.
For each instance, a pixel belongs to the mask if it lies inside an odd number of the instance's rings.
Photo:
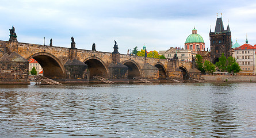
<svg viewBox="0 0 256 138">
<path fill-rule="evenodd" d="M 224 29 L 222 18 L 217 18 L 215 25 L 215 32 L 212 32 L 210 29 L 210 43 L 211 43 L 211 60 L 215 64 L 219 62 L 219 57 L 222 53 L 226 57 L 231 56 L 231 31 L 230 26 L 227 26 L 227 29 Z"/>
</svg>

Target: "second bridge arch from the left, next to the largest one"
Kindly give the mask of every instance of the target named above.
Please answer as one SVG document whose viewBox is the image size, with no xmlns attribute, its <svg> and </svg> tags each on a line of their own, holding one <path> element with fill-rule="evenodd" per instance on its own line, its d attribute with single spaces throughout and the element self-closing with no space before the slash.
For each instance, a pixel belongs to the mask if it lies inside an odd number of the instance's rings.
<svg viewBox="0 0 256 138">
<path fill-rule="evenodd" d="M 106 64 L 100 57 L 97 56 L 90 56 L 87 57 L 83 63 L 87 64 L 89 70 L 89 78 L 93 79 L 93 76 L 102 76 L 104 78 L 108 77 L 109 71 L 106 67 Z"/>
</svg>

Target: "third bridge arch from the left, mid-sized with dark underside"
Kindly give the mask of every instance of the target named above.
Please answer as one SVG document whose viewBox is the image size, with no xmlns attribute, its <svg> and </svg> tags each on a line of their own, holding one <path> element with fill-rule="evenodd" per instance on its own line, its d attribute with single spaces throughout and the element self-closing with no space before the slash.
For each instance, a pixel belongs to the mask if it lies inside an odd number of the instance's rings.
<svg viewBox="0 0 256 138">
<path fill-rule="evenodd" d="M 125 60 L 123 62 L 125 66 L 128 67 L 128 78 L 133 79 L 136 76 L 140 76 L 141 69 L 139 65 L 134 60 Z"/>
</svg>

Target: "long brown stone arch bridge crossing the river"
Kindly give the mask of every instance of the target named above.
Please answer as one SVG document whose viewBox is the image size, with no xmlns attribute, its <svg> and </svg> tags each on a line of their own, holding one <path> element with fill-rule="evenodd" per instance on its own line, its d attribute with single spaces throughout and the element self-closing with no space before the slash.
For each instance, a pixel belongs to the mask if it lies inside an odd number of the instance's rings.
<svg viewBox="0 0 256 138">
<path fill-rule="evenodd" d="M 9 41 L 0 41 L 0 57 L 13 52 L 26 60 L 37 60 L 44 76 L 60 82 L 88 82 L 93 81 L 96 75 L 116 82 L 133 81 L 136 77 L 166 82 L 199 79 L 201 75 L 194 68 L 194 62 L 124 55 L 118 52 L 117 44 L 114 52 L 110 53 L 77 49 L 74 42 L 71 48 L 64 48 L 19 43 L 16 37 L 11 36 Z"/>
</svg>

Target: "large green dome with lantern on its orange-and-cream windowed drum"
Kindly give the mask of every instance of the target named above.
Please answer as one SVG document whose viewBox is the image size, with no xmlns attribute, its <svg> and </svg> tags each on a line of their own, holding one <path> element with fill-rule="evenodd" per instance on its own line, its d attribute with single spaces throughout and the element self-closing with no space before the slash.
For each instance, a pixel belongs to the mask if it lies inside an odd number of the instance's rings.
<svg viewBox="0 0 256 138">
<path fill-rule="evenodd" d="M 185 49 L 191 50 L 193 52 L 195 51 L 204 51 L 205 44 L 204 39 L 200 36 L 200 34 L 197 34 L 196 28 L 192 30 L 192 34 L 190 34 L 186 41 L 185 41 Z"/>
</svg>

